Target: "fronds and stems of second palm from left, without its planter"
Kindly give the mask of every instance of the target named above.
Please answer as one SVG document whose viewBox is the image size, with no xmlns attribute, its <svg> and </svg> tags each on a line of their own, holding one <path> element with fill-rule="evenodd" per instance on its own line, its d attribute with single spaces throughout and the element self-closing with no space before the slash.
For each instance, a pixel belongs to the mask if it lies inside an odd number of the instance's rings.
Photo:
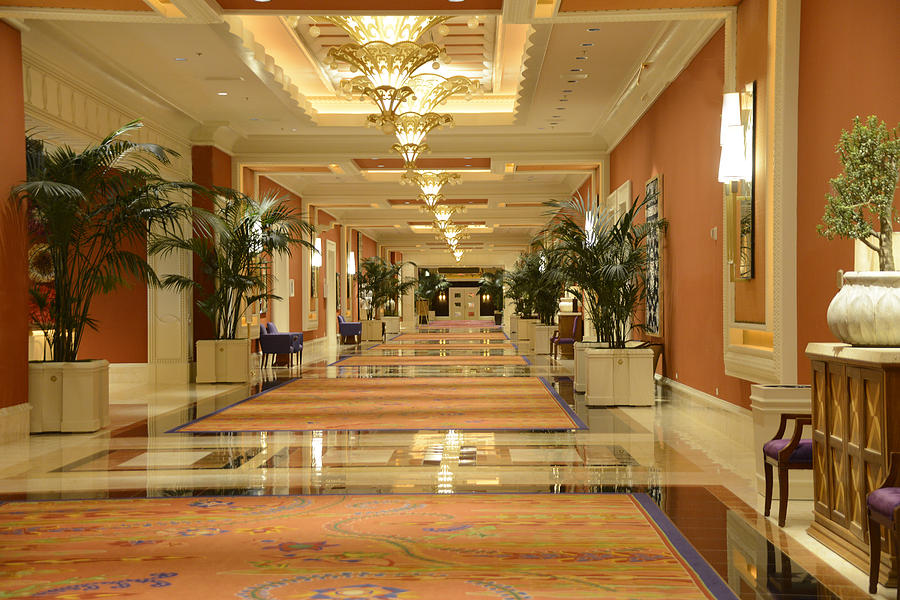
<svg viewBox="0 0 900 600">
<path fill-rule="evenodd" d="M 294 246 L 313 248 L 315 227 L 303 221 L 287 199 L 266 194 L 254 200 L 234 190 L 217 188 L 214 209 L 195 209 L 200 224 L 193 237 L 156 236 L 150 251 L 163 255 L 187 251 L 199 258 L 200 269 L 214 288 L 183 275 L 168 275 L 162 284 L 196 290 L 197 306 L 216 328 L 218 339 L 235 339 L 248 306 L 269 293 L 261 261 L 267 256 L 291 254 Z"/>
</svg>

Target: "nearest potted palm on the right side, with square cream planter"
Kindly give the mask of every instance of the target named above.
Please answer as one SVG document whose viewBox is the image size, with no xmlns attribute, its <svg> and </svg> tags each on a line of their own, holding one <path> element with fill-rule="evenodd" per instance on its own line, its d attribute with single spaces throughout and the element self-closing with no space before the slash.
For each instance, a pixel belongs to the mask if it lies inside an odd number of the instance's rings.
<svg viewBox="0 0 900 600">
<path fill-rule="evenodd" d="M 589 406 L 653 403 L 653 351 L 636 348 L 631 334 L 642 329 L 637 310 L 646 298 L 647 237 L 663 220 L 637 223 L 644 202 L 616 217 L 597 218 L 578 200 L 550 202 L 554 219 L 544 234 L 550 241 L 551 264 L 583 295 L 601 347 L 581 344 L 583 381 Z"/>
</svg>

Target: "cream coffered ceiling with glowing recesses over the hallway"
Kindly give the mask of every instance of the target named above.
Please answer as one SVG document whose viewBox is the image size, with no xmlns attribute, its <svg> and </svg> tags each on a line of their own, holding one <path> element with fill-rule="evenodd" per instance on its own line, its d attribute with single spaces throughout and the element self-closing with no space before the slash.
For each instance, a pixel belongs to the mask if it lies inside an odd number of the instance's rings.
<svg viewBox="0 0 900 600">
<path fill-rule="evenodd" d="M 137 94 L 134 116 L 165 114 L 160 125 L 221 147 L 236 169 L 253 169 L 345 225 L 416 253 L 440 243 L 417 190 L 399 184 L 392 137 L 365 127 L 371 104 L 337 93 L 351 73 L 324 58 L 349 38 L 321 17 L 449 16 L 444 35 L 423 38 L 451 58 L 436 72 L 465 75 L 481 89 L 440 107 L 456 126 L 429 134 L 432 151 L 419 164 L 462 174 L 463 183 L 444 192 L 465 209 L 455 220 L 470 224 L 465 264 L 526 245 L 546 221 L 544 201 L 589 177 L 602 189 L 607 153 L 735 4 L 0 0 L 0 17 L 23 30 L 27 60 L 52 62 L 98 96 L 125 102 Z"/>
</svg>

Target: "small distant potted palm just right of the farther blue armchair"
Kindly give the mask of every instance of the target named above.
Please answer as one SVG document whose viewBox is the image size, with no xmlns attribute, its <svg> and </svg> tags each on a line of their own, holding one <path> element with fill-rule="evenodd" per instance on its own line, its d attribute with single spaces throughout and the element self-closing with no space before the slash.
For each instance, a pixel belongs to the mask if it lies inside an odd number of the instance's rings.
<svg viewBox="0 0 900 600">
<path fill-rule="evenodd" d="M 405 264 L 397 263 L 389 264 L 381 257 L 370 256 L 360 265 L 357 282 L 359 285 L 359 293 L 367 299 L 366 315 L 368 319 L 363 321 L 363 340 L 376 341 L 382 337 L 382 328 L 380 317 L 384 316 L 384 310 L 412 289 L 416 285 L 413 278 L 404 278 L 400 274 L 400 270 Z M 400 317 L 389 316 L 389 319 L 396 320 L 396 325 L 391 324 L 391 331 L 400 333 Z M 369 323 L 368 325 L 366 323 Z"/>
</svg>

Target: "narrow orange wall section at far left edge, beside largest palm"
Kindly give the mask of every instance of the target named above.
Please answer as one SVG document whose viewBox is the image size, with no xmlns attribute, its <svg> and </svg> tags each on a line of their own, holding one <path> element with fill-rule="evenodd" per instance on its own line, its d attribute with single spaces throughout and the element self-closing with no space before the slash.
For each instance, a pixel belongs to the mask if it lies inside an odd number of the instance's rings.
<svg viewBox="0 0 900 600">
<path fill-rule="evenodd" d="M 19 32 L 0 23 L 0 201 L 25 180 L 25 103 Z M 22 221 L 0 221 L 0 408 L 28 400 L 28 287 Z"/>
</svg>

